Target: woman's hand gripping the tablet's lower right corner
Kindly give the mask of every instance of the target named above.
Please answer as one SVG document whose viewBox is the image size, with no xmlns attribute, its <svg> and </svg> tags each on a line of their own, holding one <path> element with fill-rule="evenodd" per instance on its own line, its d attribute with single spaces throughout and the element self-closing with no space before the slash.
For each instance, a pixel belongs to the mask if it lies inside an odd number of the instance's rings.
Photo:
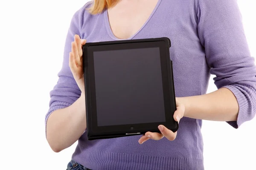
<svg viewBox="0 0 256 170">
<path fill-rule="evenodd" d="M 179 123 L 180 119 L 184 116 L 185 106 L 179 102 L 178 98 L 176 98 L 176 108 L 177 110 L 174 112 L 173 118 Z M 160 140 L 163 139 L 163 137 L 166 137 L 168 140 L 173 141 L 177 136 L 177 131 L 173 133 L 172 130 L 167 129 L 163 125 L 159 125 L 158 129 L 161 133 L 147 132 L 140 138 L 139 143 L 143 144 L 148 139 Z"/>
</svg>

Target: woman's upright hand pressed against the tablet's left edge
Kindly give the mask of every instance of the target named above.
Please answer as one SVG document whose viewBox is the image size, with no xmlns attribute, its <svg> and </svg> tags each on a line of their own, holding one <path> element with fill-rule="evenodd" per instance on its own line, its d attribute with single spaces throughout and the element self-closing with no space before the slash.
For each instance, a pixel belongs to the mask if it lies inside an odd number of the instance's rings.
<svg viewBox="0 0 256 170">
<path fill-rule="evenodd" d="M 80 39 L 79 35 L 74 36 L 74 41 L 71 43 L 71 52 L 69 54 L 69 66 L 78 87 L 81 90 L 81 96 L 84 92 L 84 71 L 83 71 L 83 51 L 82 45 L 86 40 Z"/>
</svg>

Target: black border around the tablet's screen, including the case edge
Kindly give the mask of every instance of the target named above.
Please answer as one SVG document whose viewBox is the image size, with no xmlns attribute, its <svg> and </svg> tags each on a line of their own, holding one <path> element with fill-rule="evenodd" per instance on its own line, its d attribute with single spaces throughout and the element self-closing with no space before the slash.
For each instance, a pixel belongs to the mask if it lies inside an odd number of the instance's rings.
<svg viewBox="0 0 256 170">
<path fill-rule="evenodd" d="M 94 77 L 94 51 L 112 51 L 135 48 L 154 48 L 160 51 L 160 64 L 163 84 L 164 108 L 166 122 L 152 122 L 130 125 L 98 126 L 96 89 Z M 172 61 L 169 57 L 170 41 L 166 38 L 144 40 L 122 40 L 113 42 L 92 42 L 83 46 L 84 81 L 86 93 L 86 114 L 88 138 L 111 138 L 113 135 L 126 136 L 144 134 L 147 131 L 159 132 L 158 125 L 164 125 L 172 131 L 177 131 L 177 122 L 173 119 L 176 110 L 175 92 L 173 84 Z M 103 137 L 102 137 L 103 138 Z"/>
</svg>

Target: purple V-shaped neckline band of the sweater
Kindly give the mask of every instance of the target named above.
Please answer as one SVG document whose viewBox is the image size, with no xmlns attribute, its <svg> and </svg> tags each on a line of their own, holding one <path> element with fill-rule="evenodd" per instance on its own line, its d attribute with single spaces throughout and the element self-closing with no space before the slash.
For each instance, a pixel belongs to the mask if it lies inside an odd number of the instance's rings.
<svg viewBox="0 0 256 170">
<path fill-rule="evenodd" d="M 151 12 L 150 16 L 148 17 L 148 19 L 146 20 L 146 22 L 143 24 L 143 26 L 135 33 L 133 34 L 131 37 L 127 38 L 127 39 L 122 39 L 122 38 L 117 38 L 114 34 L 113 31 L 111 29 L 110 23 L 109 23 L 109 18 L 108 18 L 108 9 L 105 9 L 105 11 L 103 12 L 104 18 L 105 18 L 105 26 L 108 32 L 108 35 L 113 39 L 113 40 L 131 40 L 133 39 L 144 27 L 145 25 L 147 25 L 148 21 L 151 19 L 151 17 L 154 15 L 155 11 L 157 10 L 158 6 L 160 5 L 162 0 L 158 0 L 157 5 L 154 7 L 153 11 Z"/>
</svg>

